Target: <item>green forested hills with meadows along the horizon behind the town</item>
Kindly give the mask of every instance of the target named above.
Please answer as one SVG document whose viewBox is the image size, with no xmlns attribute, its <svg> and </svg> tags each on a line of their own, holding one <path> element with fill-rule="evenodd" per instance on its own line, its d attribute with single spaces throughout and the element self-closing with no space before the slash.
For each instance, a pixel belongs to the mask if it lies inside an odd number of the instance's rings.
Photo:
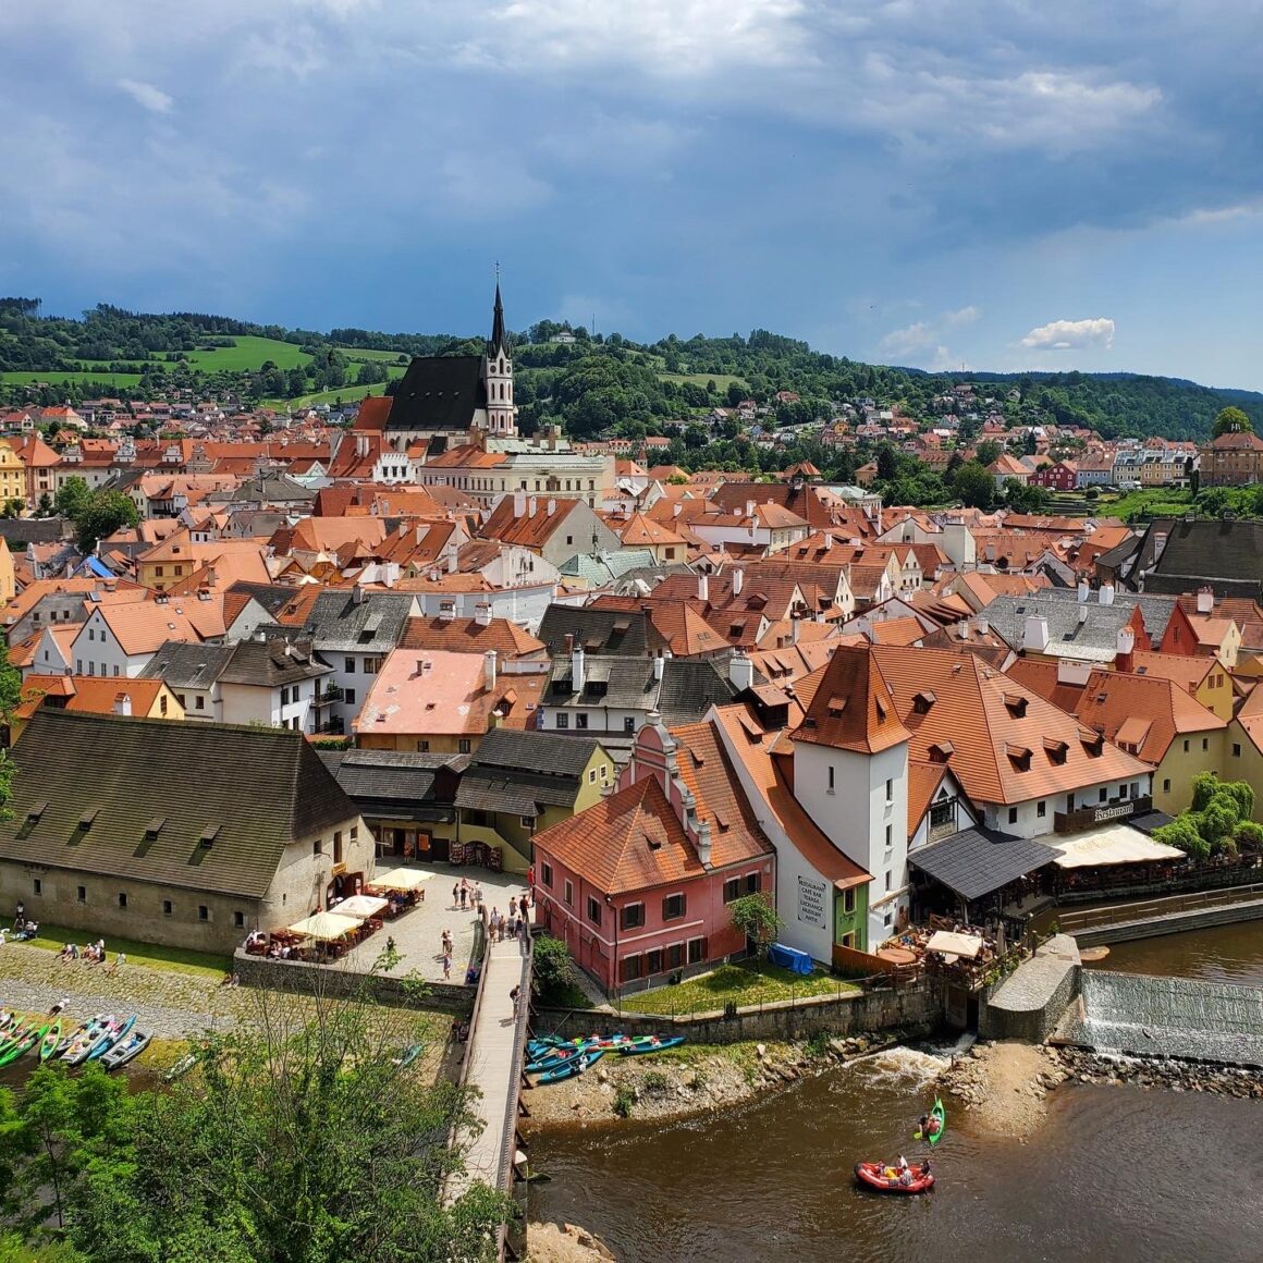
<svg viewBox="0 0 1263 1263">
<path fill-rule="evenodd" d="M 0 299 L 0 397 L 76 402 L 107 393 L 145 398 L 172 390 L 231 392 L 242 402 L 346 402 L 389 390 L 410 355 L 465 354 L 477 337 L 380 333 L 256 325 L 192 312 L 148 314 L 100 304 L 82 320 L 42 317 L 38 299 Z M 551 341 L 563 331 L 573 341 Z M 517 336 L 517 395 L 523 428 L 561 422 L 575 437 L 661 433 L 672 422 L 753 398 L 775 404 L 779 424 L 825 421 L 842 403 L 898 404 L 930 421 L 936 399 L 971 381 L 1012 423 L 1055 421 L 1119 436 L 1202 438 L 1228 403 L 1263 428 L 1263 395 L 1214 390 L 1173 378 L 1132 374 L 959 374 L 861 364 L 806 342 L 754 330 L 748 337 L 642 345 L 618 333 L 543 321 Z M 959 405 L 955 407 L 956 410 Z M 729 432 L 730 431 L 730 432 Z M 721 428 L 735 440 L 738 427 Z"/>
</svg>

